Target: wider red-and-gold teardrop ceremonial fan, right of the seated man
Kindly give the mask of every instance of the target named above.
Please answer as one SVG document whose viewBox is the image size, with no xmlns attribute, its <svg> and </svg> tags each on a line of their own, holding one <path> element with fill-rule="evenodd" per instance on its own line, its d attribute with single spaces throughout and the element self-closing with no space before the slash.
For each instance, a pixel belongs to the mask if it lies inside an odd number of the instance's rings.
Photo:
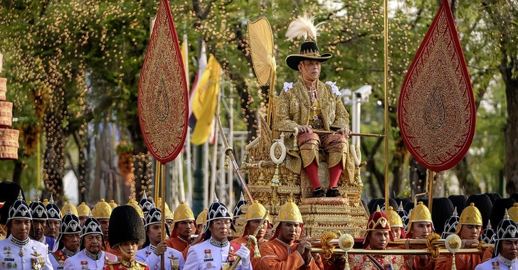
<svg viewBox="0 0 518 270">
<path fill-rule="evenodd" d="M 443 0 L 408 69 L 398 124 L 408 151 L 430 171 L 466 155 L 475 135 L 475 99 L 448 0 Z"/>
</svg>

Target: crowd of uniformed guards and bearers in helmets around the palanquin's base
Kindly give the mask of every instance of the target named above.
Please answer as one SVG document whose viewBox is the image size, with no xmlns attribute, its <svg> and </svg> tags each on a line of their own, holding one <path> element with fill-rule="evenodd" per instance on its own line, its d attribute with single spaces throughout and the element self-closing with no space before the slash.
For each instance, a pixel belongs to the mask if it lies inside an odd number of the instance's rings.
<svg viewBox="0 0 518 270">
<path fill-rule="evenodd" d="M 84 202 L 58 207 L 52 197 L 41 201 L 38 195 L 27 203 L 19 185 L 0 185 L 0 269 L 327 270 L 345 269 L 346 259 L 350 269 L 451 269 L 454 259 L 462 270 L 518 269 L 518 203 L 495 194 L 433 198 L 433 212 L 426 200 L 414 204 L 406 198 L 390 199 L 388 207 L 384 199 L 364 204 L 370 212 L 361 240 L 364 249 L 398 249 L 391 246 L 394 239 L 426 239 L 437 233 L 443 238 L 457 234 L 461 248 L 494 244 L 484 252 L 436 258 L 387 252 L 324 259 L 312 252 L 292 200 L 272 222 L 260 202 L 248 204 L 243 196 L 233 212 L 216 199 L 195 218 L 184 202 L 173 212 L 167 206 L 162 211 L 157 207 L 160 198 L 155 204 L 145 194 L 139 202 L 100 200 L 90 209 Z M 237 217 L 246 221 L 243 235 L 236 235 Z M 403 248 L 412 249 L 409 243 Z"/>
</svg>

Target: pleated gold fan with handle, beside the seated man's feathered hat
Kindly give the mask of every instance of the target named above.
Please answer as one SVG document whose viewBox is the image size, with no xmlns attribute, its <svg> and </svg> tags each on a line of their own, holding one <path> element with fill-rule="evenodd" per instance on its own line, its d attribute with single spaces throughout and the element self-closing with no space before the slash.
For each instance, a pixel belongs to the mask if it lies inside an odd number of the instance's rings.
<svg viewBox="0 0 518 270">
<path fill-rule="evenodd" d="M 270 125 L 276 70 L 275 57 L 273 55 L 272 28 L 265 17 L 261 17 L 257 21 L 249 21 L 247 25 L 250 55 L 252 56 L 253 70 L 255 71 L 258 84 L 265 86 L 271 80 L 268 114 L 266 117 L 267 123 Z"/>
</svg>

